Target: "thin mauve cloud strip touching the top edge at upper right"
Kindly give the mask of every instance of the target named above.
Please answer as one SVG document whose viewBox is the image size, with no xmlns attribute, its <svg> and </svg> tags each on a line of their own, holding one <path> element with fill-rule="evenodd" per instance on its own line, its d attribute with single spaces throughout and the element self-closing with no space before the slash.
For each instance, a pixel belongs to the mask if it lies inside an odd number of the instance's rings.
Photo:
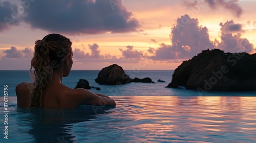
<svg viewBox="0 0 256 143">
<path fill-rule="evenodd" d="M 238 4 L 238 0 L 202 0 L 204 3 L 208 4 L 211 9 L 217 10 L 219 7 L 222 7 L 225 10 L 230 11 L 234 16 L 240 17 L 243 13 L 243 9 Z M 200 2 L 202 2 L 200 1 Z M 194 3 L 183 1 L 184 4 L 188 7 L 195 7 L 198 4 L 198 1 Z"/>
</svg>

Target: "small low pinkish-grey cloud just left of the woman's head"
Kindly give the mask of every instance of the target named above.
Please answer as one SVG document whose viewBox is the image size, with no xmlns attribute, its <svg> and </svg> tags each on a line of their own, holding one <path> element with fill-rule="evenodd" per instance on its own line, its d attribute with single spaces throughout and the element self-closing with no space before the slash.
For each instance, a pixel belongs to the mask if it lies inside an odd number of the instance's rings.
<svg viewBox="0 0 256 143">
<path fill-rule="evenodd" d="M 33 56 L 33 52 L 30 48 L 25 48 L 24 50 L 17 50 L 16 47 L 12 46 L 10 50 L 4 50 L 4 57 L 7 58 L 31 58 Z"/>
</svg>

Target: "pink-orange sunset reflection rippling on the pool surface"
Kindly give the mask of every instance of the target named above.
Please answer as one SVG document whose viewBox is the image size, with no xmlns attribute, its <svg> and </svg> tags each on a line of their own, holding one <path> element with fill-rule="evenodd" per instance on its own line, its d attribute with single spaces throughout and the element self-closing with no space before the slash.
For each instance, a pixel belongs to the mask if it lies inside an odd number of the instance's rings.
<svg viewBox="0 0 256 143">
<path fill-rule="evenodd" d="M 117 103 L 121 102 L 118 106 L 129 104 L 138 107 L 133 108 L 132 114 L 128 114 L 133 121 L 125 123 L 128 124 L 127 129 L 142 132 L 141 136 L 145 135 L 147 138 L 159 138 L 158 141 L 189 138 L 182 136 L 182 132 L 191 135 L 198 132 L 200 138 L 208 141 L 212 136 L 221 138 L 248 131 L 256 133 L 256 101 L 253 97 L 114 98 Z M 251 135 L 249 138 L 256 139 Z M 232 139 L 225 141 L 230 140 Z"/>
</svg>

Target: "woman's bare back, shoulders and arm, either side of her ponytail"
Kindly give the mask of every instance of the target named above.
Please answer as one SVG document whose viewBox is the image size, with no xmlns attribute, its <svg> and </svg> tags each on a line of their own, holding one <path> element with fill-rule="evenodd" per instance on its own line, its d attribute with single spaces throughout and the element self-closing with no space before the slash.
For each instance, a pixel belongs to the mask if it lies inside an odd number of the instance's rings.
<svg viewBox="0 0 256 143">
<path fill-rule="evenodd" d="M 29 107 L 32 83 L 22 82 L 16 86 L 17 106 Z M 116 105 L 108 96 L 93 93 L 87 89 L 72 89 L 61 83 L 51 84 L 44 95 L 44 108 L 69 108 L 79 105 Z"/>
</svg>

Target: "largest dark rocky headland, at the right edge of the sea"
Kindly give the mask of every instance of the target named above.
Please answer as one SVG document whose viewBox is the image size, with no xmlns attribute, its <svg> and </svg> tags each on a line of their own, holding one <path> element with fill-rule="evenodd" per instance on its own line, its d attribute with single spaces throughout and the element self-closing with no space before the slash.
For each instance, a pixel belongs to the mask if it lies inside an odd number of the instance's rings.
<svg viewBox="0 0 256 143">
<path fill-rule="evenodd" d="M 166 87 L 200 91 L 256 90 L 256 54 L 205 50 L 175 69 Z"/>
</svg>

